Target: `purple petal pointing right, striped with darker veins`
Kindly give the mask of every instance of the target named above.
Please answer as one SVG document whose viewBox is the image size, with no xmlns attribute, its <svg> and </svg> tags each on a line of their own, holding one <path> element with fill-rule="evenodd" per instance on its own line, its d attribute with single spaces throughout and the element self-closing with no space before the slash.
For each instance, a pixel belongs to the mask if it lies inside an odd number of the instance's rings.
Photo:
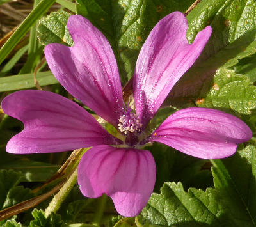
<svg viewBox="0 0 256 227">
<path fill-rule="evenodd" d="M 152 133 L 157 141 L 202 159 L 220 159 L 236 152 L 237 144 L 252 137 L 239 118 L 216 109 L 188 108 L 169 116 Z"/>
</svg>

